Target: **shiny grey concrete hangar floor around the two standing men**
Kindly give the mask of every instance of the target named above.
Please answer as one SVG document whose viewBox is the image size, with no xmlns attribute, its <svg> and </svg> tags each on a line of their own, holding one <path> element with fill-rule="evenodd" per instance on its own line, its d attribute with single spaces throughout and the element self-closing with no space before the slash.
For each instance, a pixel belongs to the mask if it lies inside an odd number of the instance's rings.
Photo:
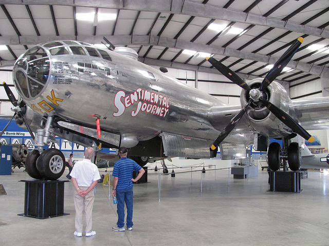
<svg viewBox="0 0 329 246">
<path fill-rule="evenodd" d="M 134 230 L 114 232 L 116 205 L 108 186 L 96 188 L 92 237 L 74 233 L 74 188 L 65 183 L 64 212 L 47 219 L 17 216 L 24 212 L 23 170 L 0 176 L 0 245 L 329 245 L 329 176 L 309 172 L 301 193 L 267 192 L 268 174 L 233 179 L 228 170 L 162 175 L 149 171 L 148 183 L 134 185 Z M 67 174 L 67 170 L 64 175 Z M 106 174 L 100 170 L 100 174 Z M 65 176 L 63 179 L 66 179 Z M 228 186 L 229 181 L 229 186 Z M 84 235 L 84 233 L 83 233 Z"/>
</svg>

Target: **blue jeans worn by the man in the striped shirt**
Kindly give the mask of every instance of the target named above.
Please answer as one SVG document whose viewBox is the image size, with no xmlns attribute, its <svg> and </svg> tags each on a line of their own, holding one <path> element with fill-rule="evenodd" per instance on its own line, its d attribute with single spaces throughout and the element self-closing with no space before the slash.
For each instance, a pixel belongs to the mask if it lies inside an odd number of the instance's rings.
<svg viewBox="0 0 329 246">
<path fill-rule="evenodd" d="M 126 226 L 133 227 L 133 187 L 130 189 L 122 190 L 116 192 L 117 195 L 117 213 L 118 213 L 118 222 L 117 226 L 119 228 L 124 227 L 124 202 L 127 207 L 127 219 Z"/>
</svg>

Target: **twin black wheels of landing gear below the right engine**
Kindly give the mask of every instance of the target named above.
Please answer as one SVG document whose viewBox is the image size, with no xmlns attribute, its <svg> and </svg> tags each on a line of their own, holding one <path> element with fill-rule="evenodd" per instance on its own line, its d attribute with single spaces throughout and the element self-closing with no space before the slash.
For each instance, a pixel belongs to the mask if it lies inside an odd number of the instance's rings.
<svg viewBox="0 0 329 246">
<path fill-rule="evenodd" d="M 268 167 L 272 171 L 278 171 L 283 165 L 283 171 L 287 171 L 287 161 L 291 171 L 298 171 L 301 165 L 301 149 L 298 142 L 291 142 L 288 146 L 288 139 L 283 139 L 283 148 L 278 142 L 272 142 L 268 147 Z"/>
</svg>

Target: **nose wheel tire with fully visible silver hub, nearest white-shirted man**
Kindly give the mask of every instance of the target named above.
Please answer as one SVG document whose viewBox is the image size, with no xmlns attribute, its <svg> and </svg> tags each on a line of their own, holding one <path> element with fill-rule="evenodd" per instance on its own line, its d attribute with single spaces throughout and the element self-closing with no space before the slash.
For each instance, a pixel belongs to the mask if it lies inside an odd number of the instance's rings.
<svg viewBox="0 0 329 246">
<path fill-rule="evenodd" d="M 38 168 L 43 178 L 56 180 L 65 171 L 65 157 L 58 149 L 47 149 L 40 154 L 36 161 L 36 168 Z"/>
</svg>

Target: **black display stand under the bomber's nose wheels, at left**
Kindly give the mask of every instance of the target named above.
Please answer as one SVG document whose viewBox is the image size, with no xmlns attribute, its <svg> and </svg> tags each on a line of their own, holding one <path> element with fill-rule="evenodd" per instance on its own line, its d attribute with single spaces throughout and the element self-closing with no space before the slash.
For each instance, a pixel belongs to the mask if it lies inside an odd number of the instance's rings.
<svg viewBox="0 0 329 246">
<path fill-rule="evenodd" d="M 25 182 L 24 214 L 38 219 L 46 219 L 64 213 L 64 183 L 68 180 L 28 179 Z"/>
</svg>

